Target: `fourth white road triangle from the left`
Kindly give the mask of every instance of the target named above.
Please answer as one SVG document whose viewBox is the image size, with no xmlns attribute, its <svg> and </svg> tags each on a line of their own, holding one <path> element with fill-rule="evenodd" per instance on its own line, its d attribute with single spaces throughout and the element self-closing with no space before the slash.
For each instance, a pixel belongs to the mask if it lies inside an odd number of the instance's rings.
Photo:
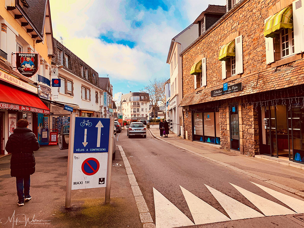
<svg viewBox="0 0 304 228">
<path fill-rule="evenodd" d="M 261 212 L 266 216 L 274 216 L 274 215 L 289 215 L 295 214 L 294 211 L 276 203 L 269 199 L 265 199 L 262 196 L 254 194 L 252 192 L 247 191 L 244 188 L 241 188 L 237 185 L 233 185 L 234 188 L 237 189 L 242 195 L 244 195 L 250 202 L 252 202 Z"/>
</svg>

